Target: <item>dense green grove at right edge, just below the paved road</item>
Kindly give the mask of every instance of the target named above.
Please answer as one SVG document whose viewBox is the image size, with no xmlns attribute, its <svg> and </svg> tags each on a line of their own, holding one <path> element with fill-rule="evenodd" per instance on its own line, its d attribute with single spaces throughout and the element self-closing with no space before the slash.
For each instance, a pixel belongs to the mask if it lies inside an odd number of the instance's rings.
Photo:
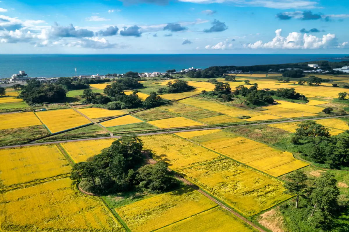
<svg viewBox="0 0 349 232">
<path fill-rule="evenodd" d="M 328 129 L 315 121 L 298 124 L 291 142 L 309 161 L 328 168 L 349 167 L 349 133 L 330 136 Z"/>
</svg>

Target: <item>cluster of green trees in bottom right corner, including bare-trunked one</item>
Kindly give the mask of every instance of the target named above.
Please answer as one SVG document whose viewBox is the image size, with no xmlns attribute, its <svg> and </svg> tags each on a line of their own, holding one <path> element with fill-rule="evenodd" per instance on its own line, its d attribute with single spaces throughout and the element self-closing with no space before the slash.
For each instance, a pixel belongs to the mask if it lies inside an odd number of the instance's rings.
<svg viewBox="0 0 349 232">
<path fill-rule="evenodd" d="M 318 178 L 309 178 L 304 172 L 295 171 L 286 178 L 285 193 L 296 195 L 295 204 L 288 202 L 280 206 L 288 229 L 299 232 L 331 231 L 334 219 L 345 209 L 339 200 L 340 192 L 334 175 L 324 172 Z"/>
</svg>

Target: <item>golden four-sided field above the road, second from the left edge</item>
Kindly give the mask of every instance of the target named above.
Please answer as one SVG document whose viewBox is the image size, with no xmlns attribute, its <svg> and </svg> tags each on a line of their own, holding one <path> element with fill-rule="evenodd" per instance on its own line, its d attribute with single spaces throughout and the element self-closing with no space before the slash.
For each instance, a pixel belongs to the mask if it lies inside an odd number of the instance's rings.
<svg viewBox="0 0 349 232">
<path fill-rule="evenodd" d="M 36 115 L 51 133 L 65 131 L 91 123 L 73 109 L 38 111 Z"/>
</svg>

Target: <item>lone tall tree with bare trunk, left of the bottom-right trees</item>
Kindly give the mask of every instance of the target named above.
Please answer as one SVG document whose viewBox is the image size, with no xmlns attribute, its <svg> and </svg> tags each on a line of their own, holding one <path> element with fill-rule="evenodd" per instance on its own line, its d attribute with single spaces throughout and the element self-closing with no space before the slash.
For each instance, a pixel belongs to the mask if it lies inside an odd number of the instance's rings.
<svg viewBox="0 0 349 232">
<path fill-rule="evenodd" d="M 285 193 L 296 196 L 296 208 L 298 208 L 299 196 L 306 193 L 306 183 L 308 176 L 302 171 L 295 171 L 287 176 L 288 181 L 285 182 L 284 187 L 286 188 Z"/>
</svg>

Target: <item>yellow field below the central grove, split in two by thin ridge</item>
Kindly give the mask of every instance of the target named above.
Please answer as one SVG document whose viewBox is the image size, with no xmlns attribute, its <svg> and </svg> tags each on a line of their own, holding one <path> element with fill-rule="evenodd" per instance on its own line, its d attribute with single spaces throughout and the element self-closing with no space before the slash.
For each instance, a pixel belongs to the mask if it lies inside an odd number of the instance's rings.
<svg viewBox="0 0 349 232">
<path fill-rule="evenodd" d="M 189 186 L 116 208 L 115 211 L 133 232 L 256 231 Z"/>
</svg>

